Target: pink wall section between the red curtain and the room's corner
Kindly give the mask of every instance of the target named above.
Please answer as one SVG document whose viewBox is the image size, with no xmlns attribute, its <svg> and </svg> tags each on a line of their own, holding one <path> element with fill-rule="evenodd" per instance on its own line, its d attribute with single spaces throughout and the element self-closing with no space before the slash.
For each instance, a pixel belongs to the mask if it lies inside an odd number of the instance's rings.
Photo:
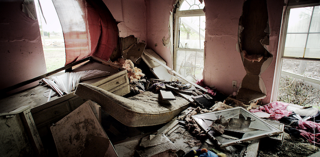
<svg viewBox="0 0 320 157">
<path fill-rule="evenodd" d="M 119 36 L 134 35 L 147 43 L 145 0 L 103 0 L 114 19 L 119 22 Z"/>
</svg>

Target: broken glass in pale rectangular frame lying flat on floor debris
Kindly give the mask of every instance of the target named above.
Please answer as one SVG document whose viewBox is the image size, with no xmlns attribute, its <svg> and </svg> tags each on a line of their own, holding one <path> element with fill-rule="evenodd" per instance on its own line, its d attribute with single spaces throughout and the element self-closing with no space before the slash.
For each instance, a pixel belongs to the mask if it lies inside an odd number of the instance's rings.
<svg viewBox="0 0 320 157">
<path fill-rule="evenodd" d="M 192 118 L 221 147 L 282 132 L 243 107 L 197 114 Z"/>
</svg>

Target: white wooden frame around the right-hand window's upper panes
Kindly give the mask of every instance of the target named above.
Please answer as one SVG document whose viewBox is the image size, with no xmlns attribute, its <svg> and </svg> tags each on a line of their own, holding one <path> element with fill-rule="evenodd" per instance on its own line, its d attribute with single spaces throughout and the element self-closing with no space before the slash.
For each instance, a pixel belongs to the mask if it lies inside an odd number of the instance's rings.
<svg viewBox="0 0 320 157">
<path fill-rule="evenodd" d="M 278 53 L 277 53 L 277 58 L 276 58 L 276 65 L 275 65 L 275 72 L 274 72 L 274 77 L 273 77 L 273 84 L 272 84 L 272 90 L 271 90 L 270 103 L 271 102 L 275 102 L 275 101 L 278 100 L 278 91 L 279 91 L 279 85 L 280 85 L 280 78 L 281 78 L 283 59 L 312 60 L 312 61 L 317 60 L 317 61 L 320 61 L 320 59 L 318 59 L 318 58 L 284 56 L 290 9 L 292 9 L 292 8 L 300 8 L 300 7 L 309 7 L 309 6 L 318 6 L 318 5 L 319 5 L 319 3 L 309 3 L 309 4 L 301 4 L 301 5 L 288 5 L 286 10 L 285 10 L 285 12 L 284 12 L 284 14 L 283 14 L 282 26 L 280 28 L 280 37 L 279 37 L 279 44 L 278 44 L 278 51 L 277 51 Z M 309 35 L 309 30 L 308 30 L 308 35 Z"/>
</svg>

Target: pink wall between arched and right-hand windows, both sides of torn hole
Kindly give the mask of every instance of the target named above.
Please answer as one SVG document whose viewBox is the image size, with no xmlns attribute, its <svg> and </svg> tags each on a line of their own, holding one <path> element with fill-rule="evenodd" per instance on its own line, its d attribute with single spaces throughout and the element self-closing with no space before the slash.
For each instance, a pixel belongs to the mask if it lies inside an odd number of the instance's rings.
<svg viewBox="0 0 320 157">
<path fill-rule="evenodd" d="M 267 98 L 262 100 L 263 104 L 270 101 L 283 1 L 267 0 L 267 5 L 271 28 L 268 50 L 274 58 L 268 69 L 261 75 L 267 90 Z M 240 53 L 235 49 L 242 6 L 243 0 L 233 0 L 232 3 L 224 0 L 205 0 L 205 39 L 207 43 L 205 46 L 204 82 L 207 85 L 215 85 L 219 91 L 225 94 L 233 92 L 232 80 L 236 80 L 237 87 L 239 87 L 246 75 Z"/>
</svg>

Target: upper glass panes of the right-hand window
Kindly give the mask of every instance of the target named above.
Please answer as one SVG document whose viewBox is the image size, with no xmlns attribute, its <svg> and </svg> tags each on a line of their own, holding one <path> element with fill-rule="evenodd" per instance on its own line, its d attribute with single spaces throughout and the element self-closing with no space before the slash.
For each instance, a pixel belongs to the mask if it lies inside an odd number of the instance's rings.
<svg viewBox="0 0 320 157">
<path fill-rule="evenodd" d="M 291 8 L 284 57 L 320 58 L 320 6 Z"/>
</svg>

